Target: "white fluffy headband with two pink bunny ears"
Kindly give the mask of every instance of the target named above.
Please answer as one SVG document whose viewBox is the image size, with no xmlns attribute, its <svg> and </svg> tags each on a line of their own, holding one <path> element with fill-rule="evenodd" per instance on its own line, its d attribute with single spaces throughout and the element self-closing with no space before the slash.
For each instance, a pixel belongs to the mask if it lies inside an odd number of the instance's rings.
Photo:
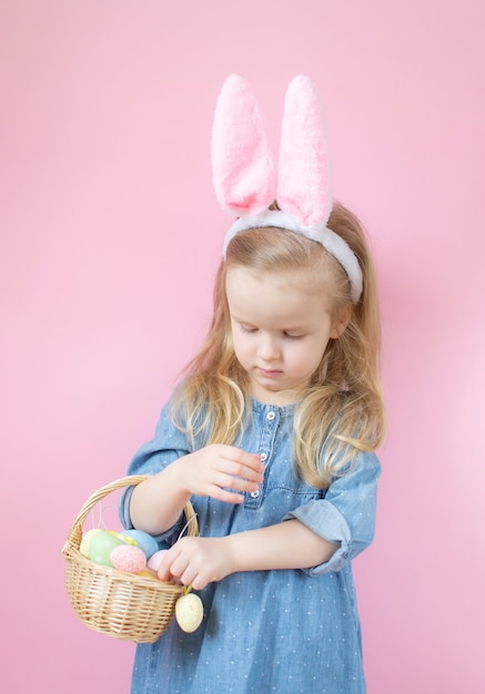
<svg viewBox="0 0 485 694">
<path fill-rule="evenodd" d="M 307 76 L 294 78 L 286 90 L 277 174 L 259 103 L 243 78 L 229 76 L 215 106 L 212 172 L 220 205 L 239 217 L 226 234 L 224 255 L 231 238 L 244 229 L 275 226 L 303 234 L 342 265 L 352 300 L 358 302 L 358 261 L 326 227 L 332 211 L 329 154 L 319 99 Z M 275 200 L 280 210 L 269 210 Z"/>
</svg>

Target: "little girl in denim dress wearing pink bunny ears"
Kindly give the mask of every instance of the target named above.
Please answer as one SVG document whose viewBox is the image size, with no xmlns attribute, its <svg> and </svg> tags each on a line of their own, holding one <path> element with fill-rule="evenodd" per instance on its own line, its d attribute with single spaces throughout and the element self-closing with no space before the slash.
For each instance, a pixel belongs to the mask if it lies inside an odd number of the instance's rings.
<svg viewBox="0 0 485 694">
<path fill-rule="evenodd" d="M 330 200 L 316 109 L 295 78 L 276 183 L 247 84 L 233 75 L 218 102 L 214 184 L 239 218 L 208 337 L 129 468 L 152 477 L 121 506 L 170 548 L 159 576 L 198 591 L 204 620 L 138 646 L 132 694 L 365 692 L 351 561 L 374 534 L 378 310 L 362 227 Z"/>
</svg>

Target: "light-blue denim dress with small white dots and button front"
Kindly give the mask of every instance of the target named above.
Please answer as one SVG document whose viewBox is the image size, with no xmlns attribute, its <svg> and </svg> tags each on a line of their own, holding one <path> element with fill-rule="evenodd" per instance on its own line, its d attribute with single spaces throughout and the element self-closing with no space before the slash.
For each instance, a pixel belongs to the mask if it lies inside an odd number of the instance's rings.
<svg viewBox="0 0 485 694">
<path fill-rule="evenodd" d="M 294 406 L 253 400 L 252 407 L 238 446 L 261 453 L 264 481 L 242 504 L 192 497 L 200 534 L 221 537 L 296 518 L 339 549 L 311 569 L 241 572 L 210 583 L 199 592 L 204 619 L 194 633 L 173 621 L 156 643 L 137 646 L 132 694 L 365 693 L 351 560 L 374 535 L 378 460 L 357 453 L 352 470 L 329 489 L 311 487 L 293 471 Z M 165 406 L 154 439 L 128 472 L 155 474 L 191 451 Z M 120 502 L 127 528 L 132 489 Z M 160 535 L 160 547 L 173 543 L 183 524 L 181 518 Z"/>
</svg>

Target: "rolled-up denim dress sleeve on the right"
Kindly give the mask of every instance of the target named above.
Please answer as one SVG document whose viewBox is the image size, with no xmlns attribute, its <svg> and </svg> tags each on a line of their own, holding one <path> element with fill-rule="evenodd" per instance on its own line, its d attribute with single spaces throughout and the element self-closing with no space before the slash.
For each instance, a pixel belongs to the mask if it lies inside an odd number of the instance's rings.
<svg viewBox="0 0 485 694">
<path fill-rule="evenodd" d="M 304 569 L 310 575 L 340 571 L 365 550 L 374 539 L 377 479 L 381 465 L 374 453 L 360 453 L 350 472 L 336 478 L 323 499 L 315 499 L 290 513 L 329 542 L 340 547 L 332 558 L 317 567 Z"/>
</svg>

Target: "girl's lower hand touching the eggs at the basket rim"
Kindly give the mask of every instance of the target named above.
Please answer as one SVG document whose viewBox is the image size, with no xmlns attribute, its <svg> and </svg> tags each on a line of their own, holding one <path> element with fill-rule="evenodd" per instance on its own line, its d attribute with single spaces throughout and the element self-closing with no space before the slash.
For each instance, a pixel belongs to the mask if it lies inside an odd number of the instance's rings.
<svg viewBox="0 0 485 694">
<path fill-rule="evenodd" d="M 225 538 L 181 538 L 163 558 L 158 571 L 161 581 L 179 579 L 183 585 L 202 590 L 234 571 Z"/>
</svg>

